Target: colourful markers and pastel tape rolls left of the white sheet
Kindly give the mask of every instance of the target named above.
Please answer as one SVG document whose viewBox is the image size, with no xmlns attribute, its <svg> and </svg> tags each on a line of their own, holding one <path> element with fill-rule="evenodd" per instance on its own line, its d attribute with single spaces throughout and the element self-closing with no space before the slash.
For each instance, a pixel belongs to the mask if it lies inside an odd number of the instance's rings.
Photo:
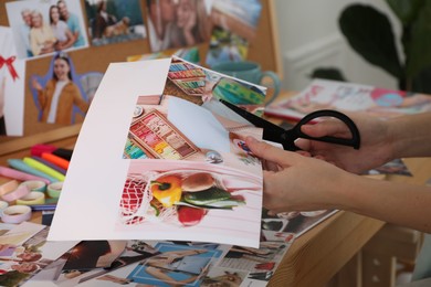
<svg viewBox="0 0 431 287">
<path fill-rule="evenodd" d="M 21 223 L 32 211 L 54 210 L 67 171 L 71 150 L 48 145 L 31 148 L 22 159 L 9 159 L 0 166 L 0 176 L 9 180 L 0 185 L 1 220 Z"/>
</svg>

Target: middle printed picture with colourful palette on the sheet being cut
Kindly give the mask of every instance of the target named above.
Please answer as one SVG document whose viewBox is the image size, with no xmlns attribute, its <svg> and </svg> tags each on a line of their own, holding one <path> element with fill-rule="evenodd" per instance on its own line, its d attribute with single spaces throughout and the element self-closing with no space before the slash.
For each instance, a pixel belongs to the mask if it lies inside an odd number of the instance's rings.
<svg viewBox="0 0 431 287">
<path fill-rule="evenodd" d="M 145 103 L 159 103 L 147 105 Z M 260 168 L 245 145 L 262 130 L 174 96 L 141 96 L 135 107 L 123 158 L 191 160 L 238 169 Z M 196 132 L 196 130 L 201 132 Z"/>
</svg>

